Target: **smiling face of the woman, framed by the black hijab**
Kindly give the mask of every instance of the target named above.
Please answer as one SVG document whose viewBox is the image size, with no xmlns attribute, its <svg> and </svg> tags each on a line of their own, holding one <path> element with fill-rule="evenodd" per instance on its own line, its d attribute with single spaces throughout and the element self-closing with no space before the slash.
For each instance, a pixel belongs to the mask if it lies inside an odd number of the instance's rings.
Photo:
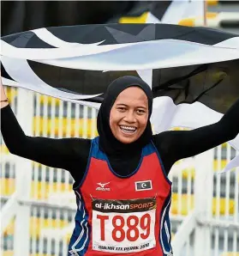
<svg viewBox="0 0 239 256">
<path fill-rule="evenodd" d="M 111 108 L 110 126 L 121 143 L 134 143 L 145 131 L 148 101 L 141 88 L 129 87 L 117 96 Z"/>
</svg>

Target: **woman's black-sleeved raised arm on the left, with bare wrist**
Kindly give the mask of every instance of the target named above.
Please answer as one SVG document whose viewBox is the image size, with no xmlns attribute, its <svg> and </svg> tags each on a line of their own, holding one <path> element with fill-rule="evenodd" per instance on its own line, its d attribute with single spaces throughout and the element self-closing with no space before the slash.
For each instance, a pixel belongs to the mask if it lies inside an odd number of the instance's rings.
<svg viewBox="0 0 239 256">
<path fill-rule="evenodd" d="M 10 153 L 45 164 L 53 168 L 63 168 L 74 172 L 85 171 L 90 140 L 81 138 L 52 139 L 29 137 L 22 131 L 15 114 L 9 107 L 1 82 L 1 131 Z M 74 176 L 74 174 L 73 174 Z"/>
</svg>

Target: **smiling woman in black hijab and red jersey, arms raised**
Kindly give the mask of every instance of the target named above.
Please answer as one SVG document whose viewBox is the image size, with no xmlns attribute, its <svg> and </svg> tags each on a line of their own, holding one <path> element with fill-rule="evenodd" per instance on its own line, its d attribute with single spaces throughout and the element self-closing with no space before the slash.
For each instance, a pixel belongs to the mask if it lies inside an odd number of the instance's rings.
<svg viewBox="0 0 239 256">
<path fill-rule="evenodd" d="M 75 179 L 78 207 L 68 255 L 172 255 L 171 166 L 239 132 L 238 100 L 216 124 L 152 136 L 151 89 L 140 78 L 123 76 L 111 83 L 99 109 L 99 137 L 27 137 L 1 90 L 9 151 L 66 169 Z"/>
</svg>

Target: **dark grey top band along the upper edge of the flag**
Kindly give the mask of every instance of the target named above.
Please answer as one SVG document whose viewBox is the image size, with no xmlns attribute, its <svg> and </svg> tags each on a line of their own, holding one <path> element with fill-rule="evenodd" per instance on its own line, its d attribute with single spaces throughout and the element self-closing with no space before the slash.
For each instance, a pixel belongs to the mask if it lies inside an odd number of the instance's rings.
<svg viewBox="0 0 239 256">
<path fill-rule="evenodd" d="M 39 37 L 35 34 L 40 29 L 5 36 L 2 40 L 20 48 L 46 48 L 46 42 L 44 40 L 39 41 Z M 101 45 L 126 44 L 131 43 L 132 40 L 141 42 L 146 40 L 176 39 L 212 46 L 221 41 L 238 37 L 237 34 L 226 33 L 208 27 L 183 27 L 162 23 L 82 25 L 48 27 L 46 29 L 57 39 L 65 42 L 93 44 L 102 41 Z M 109 32 L 111 29 L 117 30 L 117 34 L 121 35 L 121 42 L 118 42 Z M 49 47 L 52 48 L 50 45 Z"/>
</svg>

